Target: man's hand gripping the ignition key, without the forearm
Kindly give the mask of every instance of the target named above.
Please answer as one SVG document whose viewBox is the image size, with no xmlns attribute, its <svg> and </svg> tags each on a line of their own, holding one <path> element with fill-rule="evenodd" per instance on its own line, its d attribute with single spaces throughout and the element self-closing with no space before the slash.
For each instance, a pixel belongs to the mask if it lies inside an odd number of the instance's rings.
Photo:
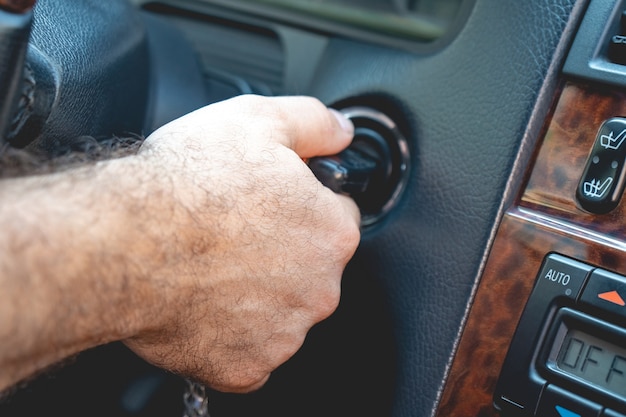
<svg viewBox="0 0 626 417">
<path fill-rule="evenodd" d="M 163 221 L 176 259 L 152 276 L 172 292 L 158 329 L 128 346 L 227 391 L 260 387 L 296 352 L 336 308 L 359 241 L 354 202 L 302 162 L 347 146 L 343 122 L 308 98 L 242 97 L 147 139 L 140 155 L 175 195 Z"/>
</svg>

